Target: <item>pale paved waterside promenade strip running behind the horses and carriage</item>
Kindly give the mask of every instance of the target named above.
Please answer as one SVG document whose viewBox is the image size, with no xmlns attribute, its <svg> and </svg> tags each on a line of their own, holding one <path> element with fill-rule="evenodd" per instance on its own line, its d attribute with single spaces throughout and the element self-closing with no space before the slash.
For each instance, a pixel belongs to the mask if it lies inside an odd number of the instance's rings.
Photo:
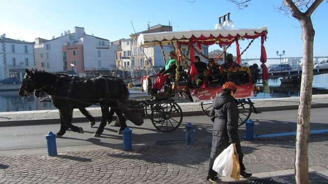
<svg viewBox="0 0 328 184">
<path fill-rule="evenodd" d="M 254 106 L 260 111 L 297 109 L 299 98 L 277 98 L 253 100 Z M 191 114 L 201 114 L 199 103 L 180 103 L 183 112 Z M 328 95 L 313 95 L 312 105 L 328 107 Z M 101 117 L 100 108 L 87 108 L 92 116 Z M 73 118 L 84 118 L 78 109 L 74 109 Z M 31 121 L 31 120 L 53 120 L 59 122 L 58 110 L 36 110 L 19 112 L 0 112 L 0 126 L 10 125 L 10 121 Z M 58 121 L 57 121 L 58 120 Z M 80 121 L 80 120 L 79 120 Z M 36 121 L 35 121 L 36 122 Z"/>
</svg>

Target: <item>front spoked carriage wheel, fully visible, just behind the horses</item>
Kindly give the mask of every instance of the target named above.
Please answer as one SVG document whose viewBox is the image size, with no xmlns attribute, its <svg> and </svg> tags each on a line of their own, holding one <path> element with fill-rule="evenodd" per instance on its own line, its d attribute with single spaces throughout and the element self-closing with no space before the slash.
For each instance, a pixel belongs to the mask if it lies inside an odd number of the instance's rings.
<svg viewBox="0 0 328 184">
<path fill-rule="evenodd" d="M 154 103 L 151 109 L 151 120 L 158 130 L 173 131 L 180 126 L 183 115 L 177 103 L 170 100 L 160 101 Z"/>
</svg>

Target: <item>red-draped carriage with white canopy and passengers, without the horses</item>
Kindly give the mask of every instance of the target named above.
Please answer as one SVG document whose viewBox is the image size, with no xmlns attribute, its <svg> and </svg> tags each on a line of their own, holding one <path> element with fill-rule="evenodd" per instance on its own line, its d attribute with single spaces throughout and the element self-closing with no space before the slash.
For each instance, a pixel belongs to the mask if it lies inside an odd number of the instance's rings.
<svg viewBox="0 0 328 184">
<path fill-rule="evenodd" d="M 237 93 L 235 98 L 238 100 L 239 108 L 239 126 L 244 124 L 251 116 L 254 111 L 257 113 L 251 97 L 255 95 L 255 81 L 252 80 L 252 72 L 248 67 L 237 66 L 232 68 L 220 68 L 218 74 L 212 74 L 219 80 L 218 83 L 212 85 L 202 81 L 202 85 L 195 85 L 193 81 L 197 78 L 197 74 L 194 73 L 194 53 L 205 59 L 210 59 L 206 54 L 201 51 L 203 45 L 219 44 L 224 46 L 223 52 L 215 58 L 217 61 L 221 56 L 226 53 L 227 49 L 233 42 L 236 43 L 236 59 L 235 62 L 238 64 L 241 60 L 241 55 L 250 47 L 256 38 L 261 38 L 261 57 L 263 68 L 263 81 L 267 79 L 267 67 L 265 62 L 267 56 L 264 49 L 264 40 L 267 37 L 267 28 L 259 29 L 239 29 L 239 30 L 211 30 L 211 31 L 182 31 L 182 32 L 160 32 L 160 33 L 149 33 L 140 34 L 138 37 L 138 44 L 141 47 L 153 47 L 154 45 L 159 46 L 163 51 L 164 45 L 171 45 L 173 50 L 177 53 L 177 69 L 176 75 L 171 76 L 165 84 L 165 90 L 161 94 L 165 97 L 171 96 L 170 98 L 162 98 L 158 100 L 156 104 L 165 104 L 166 102 L 174 103 L 174 107 L 180 112 L 180 107 L 173 102 L 173 99 L 183 98 L 190 102 L 200 102 L 200 106 L 204 114 L 208 116 L 210 109 L 212 108 L 212 100 L 221 92 L 222 84 L 226 81 L 233 81 L 237 84 Z M 251 39 L 248 46 L 240 53 L 239 40 Z M 187 52 L 182 51 L 182 47 L 187 47 Z M 163 54 L 164 60 L 166 61 L 165 55 Z M 189 62 L 189 64 L 187 64 Z M 186 72 L 185 68 L 189 68 Z M 253 74 L 254 75 L 254 74 Z M 147 81 L 147 80 L 144 80 Z M 173 98 L 174 96 L 174 98 Z M 155 95 L 156 98 L 160 97 Z M 170 100 L 170 101 L 168 101 Z M 146 113 L 148 117 L 153 121 L 154 125 L 161 122 L 163 119 L 155 120 L 154 118 L 159 115 L 163 117 L 166 113 L 160 113 L 158 107 L 162 105 L 147 106 Z M 156 108 L 154 108 L 156 107 Z M 159 116 L 160 117 L 160 116 Z M 179 124 L 178 124 L 179 125 Z M 177 125 L 177 126 L 178 126 Z M 155 126 L 156 127 L 156 126 Z M 156 127 L 157 128 L 157 127 Z M 175 129 L 177 127 L 174 127 Z"/>
</svg>

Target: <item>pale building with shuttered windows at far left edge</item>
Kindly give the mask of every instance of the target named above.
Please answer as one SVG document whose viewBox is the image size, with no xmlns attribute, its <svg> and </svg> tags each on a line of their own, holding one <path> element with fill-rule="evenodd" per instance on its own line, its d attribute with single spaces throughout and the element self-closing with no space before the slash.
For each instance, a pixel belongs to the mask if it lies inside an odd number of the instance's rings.
<svg viewBox="0 0 328 184">
<path fill-rule="evenodd" d="M 0 80 L 17 77 L 22 81 L 26 68 L 34 66 L 33 42 L 0 37 Z"/>
</svg>

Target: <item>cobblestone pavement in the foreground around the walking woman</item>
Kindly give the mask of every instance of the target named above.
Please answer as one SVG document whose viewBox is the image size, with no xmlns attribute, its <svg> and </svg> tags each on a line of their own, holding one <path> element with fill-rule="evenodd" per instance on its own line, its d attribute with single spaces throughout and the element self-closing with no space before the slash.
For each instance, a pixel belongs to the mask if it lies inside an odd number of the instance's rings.
<svg viewBox="0 0 328 184">
<path fill-rule="evenodd" d="M 328 168 L 328 134 L 312 135 L 310 166 Z M 244 164 L 253 173 L 294 168 L 294 137 L 242 142 Z M 165 143 L 165 142 L 164 142 Z M 103 149 L 56 157 L 0 157 L 0 183 L 209 183 L 211 143 L 156 144 L 131 152 Z"/>
</svg>

